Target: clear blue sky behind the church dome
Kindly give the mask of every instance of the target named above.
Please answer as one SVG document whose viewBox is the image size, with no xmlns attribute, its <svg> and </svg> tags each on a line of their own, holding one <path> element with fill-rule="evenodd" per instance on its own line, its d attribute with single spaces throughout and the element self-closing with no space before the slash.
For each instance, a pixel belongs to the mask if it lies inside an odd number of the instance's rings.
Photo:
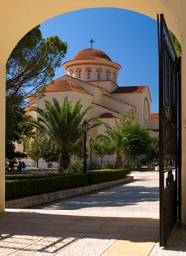
<svg viewBox="0 0 186 256">
<path fill-rule="evenodd" d="M 109 55 L 121 65 L 119 86 L 146 84 L 152 97 L 151 112 L 158 112 L 157 22 L 140 13 L 117 8 L 92 8 L 65 13 L 41 24 L 43 37 L 58 35 L 68 43 L 63 59 L 71 60 L 77 52 L 93 48 Z M 62 67 L 55 78 L 65 74 Z"/>
</svg>

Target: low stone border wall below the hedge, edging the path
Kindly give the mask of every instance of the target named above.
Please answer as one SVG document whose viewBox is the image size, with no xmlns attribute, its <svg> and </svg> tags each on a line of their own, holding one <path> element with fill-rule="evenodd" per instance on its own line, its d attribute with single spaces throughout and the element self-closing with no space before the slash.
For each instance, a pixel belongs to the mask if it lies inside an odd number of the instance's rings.
<svg viewBox="0 0 186 256">
<path fill-rule="evenodd" d="M 93 184 L 93 185 L 79 187 L 79 188 L 66 189 L 63 191 L 57 191 L 57 192 L 43 194 L 43 195 L 27 196 L 20 199 L 6 201 L 6 208 L 23 209 L 23 208 L 32 207 L 38 204 L 45 204 L 55 200 L 67 198 L 70 196 L 80 195 L 83 193 L 88 193 L 91 191 L 108 188 L 117 184 L 127 183 L 132 180 L 134 180 L 134 177 L 130 176 L 125 179 L 112 180 L 109 182 Z"/>
</svg>

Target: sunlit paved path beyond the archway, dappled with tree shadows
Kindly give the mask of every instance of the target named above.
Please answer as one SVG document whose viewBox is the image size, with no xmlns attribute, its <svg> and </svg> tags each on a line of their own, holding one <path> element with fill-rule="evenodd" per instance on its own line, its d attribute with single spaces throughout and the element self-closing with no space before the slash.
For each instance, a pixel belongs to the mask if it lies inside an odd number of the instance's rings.
<svg viewBox="0 0 186 256">
<path fill-rule="evenodd" d="M 132 175 L 134 182 L 37 205 L 32 209 L 159 216 L 159 173 L 133 172 Z"/>
</svg>

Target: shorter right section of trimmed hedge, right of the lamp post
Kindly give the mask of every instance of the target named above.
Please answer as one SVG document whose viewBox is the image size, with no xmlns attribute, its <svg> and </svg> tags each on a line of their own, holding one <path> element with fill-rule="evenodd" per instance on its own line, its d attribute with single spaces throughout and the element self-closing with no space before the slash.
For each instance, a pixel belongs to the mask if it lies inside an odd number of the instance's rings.
<svg viewBox="0 0 186 256">
<path fill-rule="evenodd" d="M 126 169 L 106 169 L 88 172 L 88 184 L 124 179 L 130 172 Z"/>
</svg>

